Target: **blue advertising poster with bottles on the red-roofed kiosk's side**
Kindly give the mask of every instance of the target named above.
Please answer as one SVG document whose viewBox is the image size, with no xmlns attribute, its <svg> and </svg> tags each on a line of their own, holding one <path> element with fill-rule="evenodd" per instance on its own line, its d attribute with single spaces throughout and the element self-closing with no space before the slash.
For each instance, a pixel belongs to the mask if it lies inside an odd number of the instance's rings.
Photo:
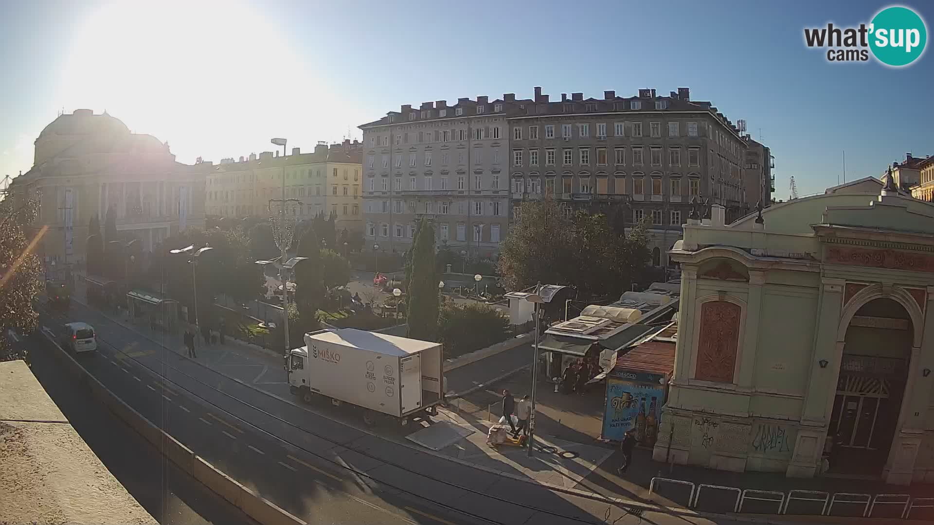
<svg viewBox="0 0 934 525">
<path fill-rule="evenodd" d="M 603 439 L 622 441 L 624 433 L 635 429 L 636 439 L 643 445 L 655 443 L 664 396 L 664 387 L 658 384 L 607 377 Z"/>
</svg>

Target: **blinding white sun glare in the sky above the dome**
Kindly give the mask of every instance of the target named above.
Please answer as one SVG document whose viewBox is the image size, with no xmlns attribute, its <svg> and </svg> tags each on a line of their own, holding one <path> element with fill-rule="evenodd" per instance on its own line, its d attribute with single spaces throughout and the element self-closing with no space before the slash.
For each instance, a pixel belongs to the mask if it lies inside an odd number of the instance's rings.
<svg viewBox="0 0 934 525">
<path fill-rule="evenodd" d="M 120 2 L 78 33 L 60 100 L 66 111 L 106 109 L 138 133 L 169 140 L 183 162 L 203 152 L 246 154 L 267 142 L 257 136 L 294 137 L 311 117 L 296 114 L 298 101 L 320 96 L 309 58 L 293 56 L 247 4 Z"/>
</svg>

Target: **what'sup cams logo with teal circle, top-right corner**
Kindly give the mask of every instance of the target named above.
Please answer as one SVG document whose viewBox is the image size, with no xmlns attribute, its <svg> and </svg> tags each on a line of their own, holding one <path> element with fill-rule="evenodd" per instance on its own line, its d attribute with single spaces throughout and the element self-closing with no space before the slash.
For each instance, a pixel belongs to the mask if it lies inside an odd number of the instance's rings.
<svg viewBox="0 0 934 525">
<path fill-rule="evenodd" d="M 927 25 L 909 7 L 885 7 L 870 23 L 858 27 L 804 28 L 808 48 L 827 50 L 828 62 L 868 62 L 874 57 L 882 64 L 901 67 L 913 64 L 925 52 Z"/>
</svg>

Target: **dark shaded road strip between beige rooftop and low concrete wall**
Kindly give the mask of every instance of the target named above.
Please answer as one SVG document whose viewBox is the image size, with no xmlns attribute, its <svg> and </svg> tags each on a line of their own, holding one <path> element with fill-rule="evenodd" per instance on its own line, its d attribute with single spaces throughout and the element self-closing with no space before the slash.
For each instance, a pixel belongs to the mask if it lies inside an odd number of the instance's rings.
<svg viewBox="0 0 934 525">
<path fill-rule="evenodd" d="M 22 341 L 32 348 L 33 375 L 94 454 L 139 504 L 163 525 L 256 525 L 226 500 L 165 460 L 158 449 L 95 399 L 62 369 L 47 339 Z"/>
</svg>

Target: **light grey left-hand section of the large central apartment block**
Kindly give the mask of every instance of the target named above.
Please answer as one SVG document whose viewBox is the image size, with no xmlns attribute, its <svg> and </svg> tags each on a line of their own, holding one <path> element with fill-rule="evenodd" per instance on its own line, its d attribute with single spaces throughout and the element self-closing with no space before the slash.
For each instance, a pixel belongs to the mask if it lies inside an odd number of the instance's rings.
<svg viewBox="0 0 934 525">
<path fill-rule="evenodd" d="M 471 258 L 495 253 L 509 224 L 512 105 L 487 96 L 454 106 L 439 100 L 361 125 L 368 246 L 402 253 L 414 241 L 417 220 L 428 217 L 439 245 Z"/>
</svg>

